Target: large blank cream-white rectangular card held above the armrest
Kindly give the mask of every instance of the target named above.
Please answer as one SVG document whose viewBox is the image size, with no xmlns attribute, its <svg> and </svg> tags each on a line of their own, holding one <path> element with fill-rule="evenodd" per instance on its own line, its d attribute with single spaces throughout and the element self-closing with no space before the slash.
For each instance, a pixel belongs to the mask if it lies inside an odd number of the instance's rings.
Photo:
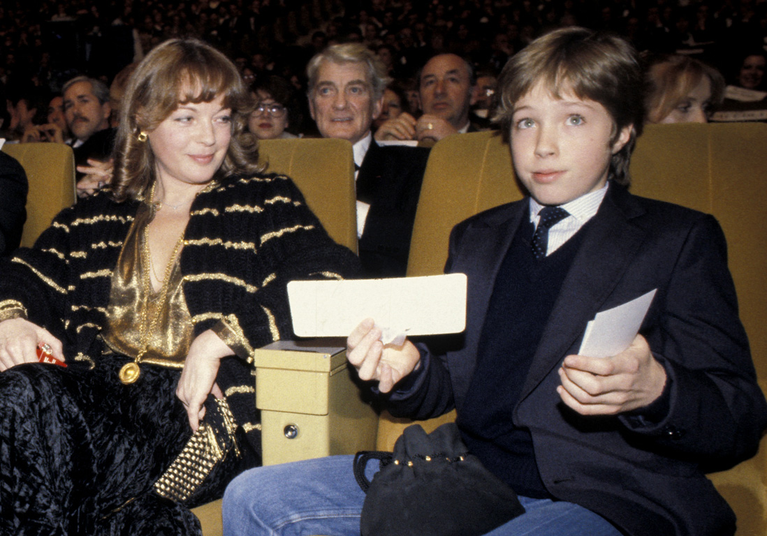
<svg viewBox="0 0 767 536">
<path fill-rule="evenodd" d="M 397 334 L 459 333 L 466 327 L 464 274 L 291 281 L 288 301 L 298 337 L 347 337 L 365 318 L 387 333 L 384 343 Z"/>
</svg>

